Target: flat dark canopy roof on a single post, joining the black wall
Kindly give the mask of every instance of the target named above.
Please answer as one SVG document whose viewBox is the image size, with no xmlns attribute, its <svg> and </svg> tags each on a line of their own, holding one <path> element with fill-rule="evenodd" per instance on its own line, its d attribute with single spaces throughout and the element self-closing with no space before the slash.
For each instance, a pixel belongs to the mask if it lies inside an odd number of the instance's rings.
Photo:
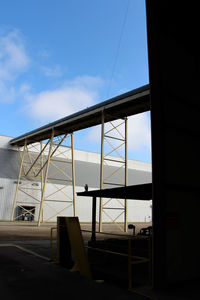
<svg viewBox="0 0 200 300">
<path fill-rule="evenodd" d="M 93 190 L 87 192 L 78 192 L 77 196 L 84 197 L 102 197 L 132 200 L 151 200 L 152 183 L 129 185 L 111 189 Z"/>
</svg>

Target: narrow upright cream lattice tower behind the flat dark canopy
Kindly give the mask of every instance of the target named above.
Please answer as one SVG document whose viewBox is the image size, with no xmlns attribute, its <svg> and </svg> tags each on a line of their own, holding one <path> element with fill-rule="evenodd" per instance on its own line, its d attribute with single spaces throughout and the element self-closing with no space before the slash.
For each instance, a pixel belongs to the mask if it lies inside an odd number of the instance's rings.
<svg viewBox="0 0 200 300">
<path fill-rule="evenodd" d="M 100 189 L 127 186 L 127 118 L 105 122 L 102 113 Z M 103 217 L 127 231 L 127 200 L 100 198 L 99 231 L 102 232 Z M 123 216 L 123 222 L 121 218 Z M 123 223 L 123 227 L 120 225 Z"/>
</svg>

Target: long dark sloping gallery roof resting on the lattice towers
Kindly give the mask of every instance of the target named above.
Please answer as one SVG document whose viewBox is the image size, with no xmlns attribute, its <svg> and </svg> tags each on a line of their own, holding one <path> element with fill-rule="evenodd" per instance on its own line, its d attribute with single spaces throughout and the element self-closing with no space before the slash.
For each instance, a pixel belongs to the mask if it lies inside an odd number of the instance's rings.
<svg viewBox="0 0 200 300">
<path fill-rule="evenodd" d="M 43 141 L 51 137 L 52 130 L 54 136 L 58 136 L 99 125 L 102 122 L 102 112 L 105 122 L 109 122 L 148 110 L 150 110 L 150 88 L 149 85 L 145 85 L 25 133 L 12 139 L 10 144 L 23 146 L 25 140 L 27 144 Z"/>
</svg>

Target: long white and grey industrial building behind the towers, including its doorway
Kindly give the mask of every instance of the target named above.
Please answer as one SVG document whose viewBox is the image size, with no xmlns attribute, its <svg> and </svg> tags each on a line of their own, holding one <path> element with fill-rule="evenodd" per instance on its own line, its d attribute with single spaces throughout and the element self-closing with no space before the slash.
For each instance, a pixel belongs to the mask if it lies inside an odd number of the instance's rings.
<svg viewBox="0 0 200 300">
<path fill-rule="evenodd" d="M 15 199 L 19 169 L 20 153 L 18 148 L 10 145 L 11 137 L 0 136 L 0 220 L 10 220 Z M 49 173 L 55 174 L 56 170 L 66 166 L 67 158 L 63 157 L 65 146 L 60 146 L 60 154 L 51 163 Z M 85 184 L 89 190 L 99 189 L 100 185 L 100 160 L 101 155 L 92 152 L 74 150 L 75 160 L 75 192 L 84 191 Z M 116 162 L 112 162 L 112 171 L 116 169 Z M 104 173 L 109 173 L 109 167 L 105 167 Z M 70 176 L 70 171 L 67 171 Z M 123 177 L 123 171 L 120 170 Z M 55 177 L 55 175 L 54 175 Z M 64 173 L 59 172 L 59 177 L 48 179 L 46 185 L 46 200 L 43 221 L 54 222 L 57 215 L 73 215 L 73 206 L 66 197 L 72 199 L 72 187 L 64 181 Z M 113 180 L 116 180 L 115 178 Z M 129 185 L 151 182 L 151 164 L 141 161 L 128 160 Z M 22 188 L 25 186 L 24 188 Z M 40 207 L 40 178 L 30 178 L 28 182 L 20 179 L 18 198 L 14 211 L 14 220 L 37 221 Z M 57 192 L 56 192 L 57 191 Z M 68 193 L 68 196 L 66 195 Z M 50 196 L 48 196 L 50 195 Z M 38 201 L 37 201 L 38 200 Z M 69 199 L 68 199 L 69 200 Z M 92 202 L 90 197 L 76 197 L 76 215 L 80 222 L 91 222 Z M 67 205 L 66 205 L 67 204 Z M 151 201 L 128 201 L 128 222 L 151 221 Z M 99 207 L 99 205 L 98 205 Z M 112 202 L 110 203 L 112 207 Z M 97 214 L 99 211 L 97 210 Z M 113 222 L 116 217 L 115 210 L 109 210 L 103 214 L 103 222 Z M 123 222 L 123 214 L 117 218 L 117 222 Z"/>
</svg>

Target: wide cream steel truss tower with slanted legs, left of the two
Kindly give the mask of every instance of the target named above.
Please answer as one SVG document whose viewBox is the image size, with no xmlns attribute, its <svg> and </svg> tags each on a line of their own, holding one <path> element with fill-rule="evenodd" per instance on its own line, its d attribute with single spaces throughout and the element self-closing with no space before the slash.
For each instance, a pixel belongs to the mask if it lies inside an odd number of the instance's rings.
<svg viewBox="0 0 200 300">
<path fill-rule="evenodd" d="M 60 147 L 62 145 L 62 147 Z M 11 220 L 55 219 L 75 216 L 75 169 L 73 134 L 54 135 L 40 143 L 19 148 L 20 169 Z M 20 213 L 19 213 L 20 211 Z"/>
</svg>

